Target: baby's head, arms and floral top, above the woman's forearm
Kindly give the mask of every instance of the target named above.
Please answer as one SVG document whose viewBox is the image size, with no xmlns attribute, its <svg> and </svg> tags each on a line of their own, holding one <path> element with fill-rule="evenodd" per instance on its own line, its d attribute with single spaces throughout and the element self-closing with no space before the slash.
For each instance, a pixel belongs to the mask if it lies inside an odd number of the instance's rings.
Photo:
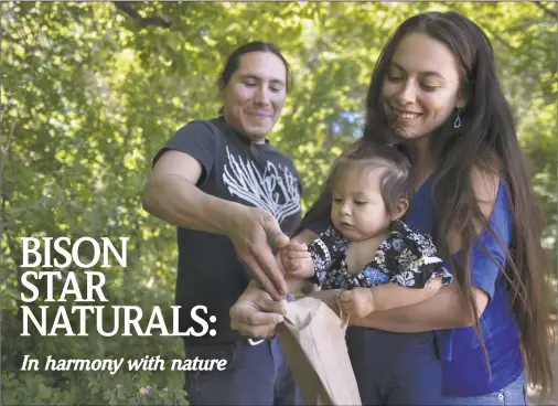
<svg viewBox="0 0 558 406">
<path fill-rule="evenodd" d="M 291 242 L 281 252 L 287 274 L 343 289 L 343 311 L 358 318 L 415 304 L 452 280 L 431 237 L 400 221 L 414 194 L 403 153 L 358 141 L 334 162 L 326 185 L 331 225 L 308 248 Z"/>
</svg>

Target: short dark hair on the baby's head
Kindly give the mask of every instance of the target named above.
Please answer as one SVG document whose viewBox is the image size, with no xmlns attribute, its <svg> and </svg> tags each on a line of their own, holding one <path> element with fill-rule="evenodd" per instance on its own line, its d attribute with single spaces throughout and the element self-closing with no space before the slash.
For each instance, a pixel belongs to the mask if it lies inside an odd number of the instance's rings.
<svg viewBox="0 0 558 406">
<path fill-rule="evenodd" d="M 389 214 L 394 214 L 400 199 L 408 202 L 415 193 L 412 168 L 409 159 L 395 146 L 358 140 L 337 157 L 328 177 L 328 185 L 333 191 L 335 182 L 352 168 L 369 170 L 382 168 L 380 191 Z"/>
</svg>

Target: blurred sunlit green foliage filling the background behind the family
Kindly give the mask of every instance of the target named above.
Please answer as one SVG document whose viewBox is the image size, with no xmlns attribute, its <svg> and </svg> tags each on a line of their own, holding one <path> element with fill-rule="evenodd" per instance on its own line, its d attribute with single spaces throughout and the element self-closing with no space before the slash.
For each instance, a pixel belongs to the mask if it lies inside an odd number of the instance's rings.
<svg viewBox="0 0 558 406">
<path fill-rule="evenodd" d="M 179 127 L 216 115 L 225 57 L 250 40 L 277 43 L 291 62 L 294 87 L 271 137 L 294 159 L 308 207 L 332 160 L 361 133 L 369 77 L 395 28 L 427 10 L 472 18 L 493 40 L 549 222 L 546 243 L 556 246 L 556 3 L 9 2 L 0 8 L 2 403 L 183 404 L 179 372 L 19 371 L 24 354 L 182 356 L 180 340 L 169 338 L 20 336 L 20 238 L 127 236 L 128 267 L 103 269 L 108 304 L 140 306 L 146 313 L 153 306 L 169 308 L 175 233 L 141 210 L 150 160 Z M 68 270 L 77 269 L 63 273 Z M 44 297 L 45 286 L 39 289 Z M 30 307 L 37 311 L 41 303 Z M 77 325 L 77 314 L 71 321 Z M 150 393 L 140 393 L 148 385 Z"/>
</svg>

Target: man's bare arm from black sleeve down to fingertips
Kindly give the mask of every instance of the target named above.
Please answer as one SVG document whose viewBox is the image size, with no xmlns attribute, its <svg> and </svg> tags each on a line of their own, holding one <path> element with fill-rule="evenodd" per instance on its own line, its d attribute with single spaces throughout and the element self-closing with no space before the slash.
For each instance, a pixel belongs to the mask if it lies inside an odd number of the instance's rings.
<svg viewBox="0 0 558 406">
<path fill-rule="evenodd" d="M 201 175 L 202 164 L 192 156 L 164 152 L 143 190 L 143 209 L 173 225 L 228 236 L 253 278 L 280 299 L 287 286 L 268 241 L 281 247 L 289 238 L 270 213 L 202 192 Z"/>
</svg>

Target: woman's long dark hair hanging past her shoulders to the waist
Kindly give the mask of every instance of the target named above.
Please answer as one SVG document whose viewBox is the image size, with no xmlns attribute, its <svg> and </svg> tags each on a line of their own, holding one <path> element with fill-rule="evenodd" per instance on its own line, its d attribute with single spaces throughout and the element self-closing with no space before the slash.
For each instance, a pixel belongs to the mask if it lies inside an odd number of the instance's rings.
<svg viewBox="0 0 558 406">
<path fill-rule="evenodd" d="M 475 224 L 484 224 L 489 233 L 495 233 L 479 207 L 471 179 L 473 169 L 500 177 L 507 188 L 513 218 L 513 238 L 502 271 L 508 280 L 529 381 L 540 385 L 544 395 L 548 394 L 552 386 L 548 330 L 551 270 L 541 245 L 546 224 L 497 78 L 493 47 L 484 32 L 455 12 L 423 13 L 405 21 L 384 47 L 374 70 L 366 98 L 363 138 L 386 143 L 397 141 L 390 136 L 393 132 L 386 131 L 390 124 L 382 103 L 382 87 L 398 44 L 415 32 L 429 35 L 452 52 L 461 71 L 461 92 L 468 100 L 461 111 L 462 126 L 455 129 L 454 117 L 450 117 L 430 139 L 437 164 L 432 193 L 443 196 L 434 200 L 438 248 L 450 261 L 480 335 L 471 284 L 472 247 L 474 244 L 482 246 Z M 301 227 L 326 215 L 329 204 L 326 195 L 322 194 Z M 462 242 L 460 263 L 453 260 L 448 243 L 450 232 L 455 229 Z M 484 346 L 484 342 L 482 344 Z"/>
</svg>

